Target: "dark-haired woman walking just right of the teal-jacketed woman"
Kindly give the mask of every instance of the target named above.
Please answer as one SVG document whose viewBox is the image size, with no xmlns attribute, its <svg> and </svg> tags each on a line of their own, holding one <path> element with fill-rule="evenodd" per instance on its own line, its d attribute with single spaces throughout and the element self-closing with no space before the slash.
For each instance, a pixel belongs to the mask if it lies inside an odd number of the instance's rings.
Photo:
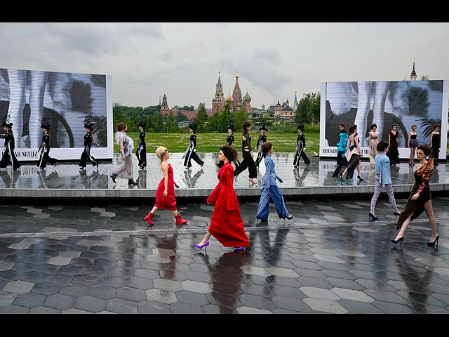
<svg viewBox="0 0 449 337">
<path fill-rule="evenodd" d="M 357 169 L 357 178 L 359 181 L 362 181 L 363 179 L 360 176 L 360 157 L 362 157 L 363 154 L 360 145 L 358 145 L 358 133 L 355 124 L 349 128 L 349 133 L 351 133 L 351 136 L 349 136 L 347 151 L 344 154 L 342 162 L 337 166 L 337 169 L 335 169 L 332 176 L 337 177 L 342 181 L 346 175 L 347 178 L 352 179 L 354 170 Z M 346 169 L 341 172 L 344 166 L 346 166 Z"/>
</svg>

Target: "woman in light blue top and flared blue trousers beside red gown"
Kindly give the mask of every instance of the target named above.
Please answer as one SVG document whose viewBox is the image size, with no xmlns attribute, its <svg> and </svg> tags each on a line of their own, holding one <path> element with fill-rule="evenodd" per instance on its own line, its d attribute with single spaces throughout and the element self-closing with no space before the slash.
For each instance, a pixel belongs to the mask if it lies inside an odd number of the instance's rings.
<svg viewBox="0 0 449 337">
<path fill-rule="evenodd" d="M 267 220 L 269 211 L 269 198 L 271 197 L 276 206 L 276 211 L 278 212 L 279 218 L 283 219 L 293 219 L 287 209 L 286 204 L 283 202 L 283 197 L 278 185 L 276 184 L 276 179 L 279 183 L 282 183 L 282 179 L 276 175 L 274 171 L 274 161 L 272 159 L 273 145 L 272 143 L 265 142 L 262 143 L 262 152 L 267 154 L 265 157 L 265 167 L 267 169 L 264 177 L 264 183 L 262 184 L 262 189 L 260 190 L 260 201 L 257 207 L 257 214 L 255 217 L 260 220 Z"/>
</svg>

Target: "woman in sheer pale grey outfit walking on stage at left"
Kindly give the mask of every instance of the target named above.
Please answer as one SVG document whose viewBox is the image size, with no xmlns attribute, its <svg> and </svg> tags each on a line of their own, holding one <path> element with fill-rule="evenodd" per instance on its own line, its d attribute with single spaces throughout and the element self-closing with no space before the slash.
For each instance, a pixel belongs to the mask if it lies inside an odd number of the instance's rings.
<svg viewBox="0 0 449 337">
<path fill-rule="evenodd" d="M 119 176 L 120 173 L 123 171 L 126 171 L 128 174 L 128 186 L 129 185 L 138 185 L 133 180 L 133 157 L 131 154 L 134 150 L 134 142 L 133 140 L 126 134 L 126 131 L 128 130 L 128 126 L 126 123 L 119 123 L 116 126 L 116 133 L 115 133 L 115 139 L 117 142 L 117 145 L 120 145 L 120 153 L 121 157 L 123 159 L 123 164 L 119 166 L 118 169 L 112 175 L 110 176 L 112 178 L 112 181 L 116 183 L 115 179 L 117 176 Z"/>
</svg>

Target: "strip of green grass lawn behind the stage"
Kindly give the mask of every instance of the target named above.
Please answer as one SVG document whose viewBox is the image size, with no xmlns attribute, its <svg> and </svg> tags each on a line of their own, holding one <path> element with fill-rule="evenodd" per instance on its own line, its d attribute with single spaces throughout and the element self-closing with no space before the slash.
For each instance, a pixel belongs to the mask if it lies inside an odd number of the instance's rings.
<svg viewBox="0 0 449 337">
<path fill-rule="evenodd" d="M 134 140 L 134 149 L 137 148 L 139 134 L 126 133 Z M 196 133 L 196 151 L 197 152 L 218 152 L 220 146 L 226 143 L 228 133 Z M 260 133 L 258 131 L 251 132 L 251 145 L 255 151 L 255 145 Z M 189 133 L 147 133 L 145 143 L 147 143 L 147 153 L 155 152 L 158 146 L 167 147 L 170 152 L 185 152 L 189 145 Z M 306 133 L 307 151 L 319 152 L 320 146 L 319 133 Z M 238 152 L 241 152 L 241 133 L 234 133 L 236 143 L 232 145 Z M 295 133 L 286 132 L 268 132 L 267 141 L 271 142 L 276 152 L 294 152 L 296 149 Z M 120 152 L 120 146 L 115 143 L 114 152 Z"/>
</svg>

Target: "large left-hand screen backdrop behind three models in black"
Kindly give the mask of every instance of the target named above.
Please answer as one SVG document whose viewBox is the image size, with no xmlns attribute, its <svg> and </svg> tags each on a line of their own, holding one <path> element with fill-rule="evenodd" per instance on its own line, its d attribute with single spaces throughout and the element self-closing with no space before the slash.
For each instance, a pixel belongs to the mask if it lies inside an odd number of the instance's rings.
<svg viewBox="0 0 449 337">
<path fill-rule="evenodd" d="M 51 122 L 51 152 L 56 159 L 79 159 L 86 130 L 93 124 L 91 154 L 112 159 L 112 77 L 100 74 L 0 68 L 0 120 L 13 123 L 15 155 L 37 160 L 42 119 Z M 1 128 L 4 135 L 4 130 Z M 0 138 L 3 149 L 4 138 Z"/>
</svg>

